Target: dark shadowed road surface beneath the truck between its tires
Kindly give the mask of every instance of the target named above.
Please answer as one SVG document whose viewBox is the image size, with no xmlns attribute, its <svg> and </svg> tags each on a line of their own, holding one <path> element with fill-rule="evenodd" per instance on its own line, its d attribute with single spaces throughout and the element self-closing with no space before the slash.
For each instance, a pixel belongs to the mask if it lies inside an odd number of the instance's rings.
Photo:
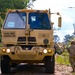
<svg viewBox="0 0 75 75">
<path fill-rule="evenodd" d="M 43 65 L 35 65 L 35 66 L 19 65 L 16 68 L 12 68 L 11 74 L 9 75 L 55 75 L 55 74 L 45 73 L 45 68 Z"/>
</svg>

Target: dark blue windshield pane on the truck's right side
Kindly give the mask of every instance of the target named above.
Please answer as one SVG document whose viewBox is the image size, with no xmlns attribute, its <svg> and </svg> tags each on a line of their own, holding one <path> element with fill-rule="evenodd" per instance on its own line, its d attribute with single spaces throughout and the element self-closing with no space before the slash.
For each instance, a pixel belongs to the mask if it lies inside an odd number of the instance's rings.
<svg viewBox="0 0 75 75">
<path fill-rule="evenodd" d="M 31 29 L 51 29 L 47 13 L 29 13 L 29 25 Z"/>
</svg>

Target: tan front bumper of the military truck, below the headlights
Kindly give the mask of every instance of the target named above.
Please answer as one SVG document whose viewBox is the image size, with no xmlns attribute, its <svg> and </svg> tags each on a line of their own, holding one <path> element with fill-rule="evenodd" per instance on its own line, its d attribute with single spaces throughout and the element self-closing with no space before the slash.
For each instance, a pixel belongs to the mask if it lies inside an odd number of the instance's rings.
<svg viewBox="0 0 75 75">
<path fill-rule="evenodd" d="M 10 48 L 11 52 L 6 53 L 2 51 L 2 48 L 0 49 L 0 55 L 8 55 L 12 60 L 43 60 L 45 56 L 53 56 L 55 51 L 52 50 L 50 53 L 43 53 L 43 51 L 37 51 L 37 50 L 13 50 L 13 47 Z M 42 49 L 42 48 L 41 48 Z"/>
</svg>

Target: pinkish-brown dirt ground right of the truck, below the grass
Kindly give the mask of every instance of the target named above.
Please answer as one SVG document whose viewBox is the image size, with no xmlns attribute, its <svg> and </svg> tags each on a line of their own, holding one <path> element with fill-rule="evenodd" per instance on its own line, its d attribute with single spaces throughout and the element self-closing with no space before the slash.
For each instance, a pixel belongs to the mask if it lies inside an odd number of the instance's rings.
<svg viewBox="0 0 75 75">
<path fill-rule="evenodd" d="M 70 65 L 56 64 L 55 75 L 75 75 L 75 73 L 72 73 L 72 68 Z"/>
</svg>

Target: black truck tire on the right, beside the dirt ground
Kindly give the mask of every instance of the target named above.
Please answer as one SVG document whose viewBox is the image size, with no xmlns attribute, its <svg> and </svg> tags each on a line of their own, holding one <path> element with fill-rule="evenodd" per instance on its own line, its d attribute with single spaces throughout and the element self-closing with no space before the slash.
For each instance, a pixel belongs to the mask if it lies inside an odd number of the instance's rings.
<svg viewBox="0 0 75 75">
<path fill-rule="evenodd" d="M 46 73 L 55 72 L 55 57 L 54 56 L 45 58 L 45 70 L 46 70 Z"/>
</svg>

